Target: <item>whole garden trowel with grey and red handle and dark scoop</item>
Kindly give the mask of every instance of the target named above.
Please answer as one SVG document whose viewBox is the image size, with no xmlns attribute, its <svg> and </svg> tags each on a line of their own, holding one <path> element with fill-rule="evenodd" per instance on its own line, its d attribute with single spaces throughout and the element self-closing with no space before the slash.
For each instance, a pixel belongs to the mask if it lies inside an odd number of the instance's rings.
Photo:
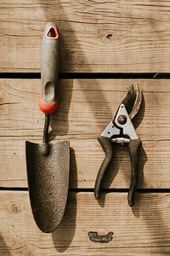
<svg viewBox="0 0 170 256">
<path fill-rule="evenodd" d="M 45 113 L 42 143 L 26 142 L 26 166 L 31 209 L 42 232 L 53 232 L 65 212 L 69 187 L 70 146 L 68 141 L 48 143 L 50 114 L 58 107 L 59 32 L 48 22 L 42 38 L 41 96 Z"/>
</svg>

